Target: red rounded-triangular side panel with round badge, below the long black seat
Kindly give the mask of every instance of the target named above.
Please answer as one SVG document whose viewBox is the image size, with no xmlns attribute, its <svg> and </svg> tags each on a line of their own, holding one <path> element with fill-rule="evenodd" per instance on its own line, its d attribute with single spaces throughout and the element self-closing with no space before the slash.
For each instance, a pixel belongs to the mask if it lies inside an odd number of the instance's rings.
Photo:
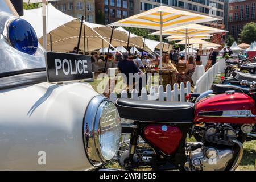
<svg viewBox="0 0 256 182">
<path fill-rule="evenodd" d="M 173 154 L 180 145 L 182 132 L 178 127 L 168 125 L 147 125 L 144 137 L 166 155 Z"/>
</svg>

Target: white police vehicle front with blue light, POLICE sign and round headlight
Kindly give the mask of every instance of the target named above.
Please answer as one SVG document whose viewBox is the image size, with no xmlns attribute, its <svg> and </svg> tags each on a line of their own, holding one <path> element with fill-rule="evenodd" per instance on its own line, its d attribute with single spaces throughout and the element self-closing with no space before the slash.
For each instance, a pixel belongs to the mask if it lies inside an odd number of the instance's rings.
<svg viewBox="0 0 256 182">
<path fill-rule="evenodd" d="M 14 6 L 0 1 L 0 170 L 102 166 L 121 136 L 115 105 L 80 81 L 92 77 L 88 57 L 45 55 Z"/>
</svg>

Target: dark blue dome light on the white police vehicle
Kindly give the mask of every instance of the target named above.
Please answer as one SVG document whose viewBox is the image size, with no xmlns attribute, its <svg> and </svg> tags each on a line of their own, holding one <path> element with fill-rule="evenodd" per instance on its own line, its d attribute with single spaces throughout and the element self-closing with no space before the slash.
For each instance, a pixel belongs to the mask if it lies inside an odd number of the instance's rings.
<svg viewBox="0 0 256 182">
<path fill-rule="evenodd" d="M 38 38 L 34 28 L 24 19 L 15 19 L 8 28 L 8 37 L 15 49 L 34 55 L 38 48 Z"/>
</svg>

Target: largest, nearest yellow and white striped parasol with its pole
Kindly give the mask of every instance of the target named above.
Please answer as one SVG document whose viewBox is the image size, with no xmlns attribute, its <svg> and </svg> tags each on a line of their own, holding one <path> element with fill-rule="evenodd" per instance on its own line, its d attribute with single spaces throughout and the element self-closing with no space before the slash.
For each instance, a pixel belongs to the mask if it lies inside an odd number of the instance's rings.
<svg viewBox="0 0 256 182">
<path fill-rule="evenodd" d="M 177 26 L 183 26 L 189 23 L 203 23 L 216 20 L 220 19 L 191 13 L 189 11 L 176 10 L 172 7 L 159 6 L 109 25 L 160 30 L 160 47 L 162 47 L 162 32 L 164 30 Z M 160 67 L 162 67 L 162 50 L 160 50 L 160 57 Z"/>
</svg>

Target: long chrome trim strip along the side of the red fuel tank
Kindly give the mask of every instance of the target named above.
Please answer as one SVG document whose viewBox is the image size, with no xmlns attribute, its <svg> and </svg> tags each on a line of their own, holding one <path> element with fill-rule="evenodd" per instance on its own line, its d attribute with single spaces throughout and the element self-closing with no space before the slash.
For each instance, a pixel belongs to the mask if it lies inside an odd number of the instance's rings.
<svg viewBox="0 0 256 182">
<path fill-rule="evenodd" d="M 199 115 L 203 113 L 217 113 L 222 112 L 222 115 Z M 203 117 L 231 117 L 231 118 L 253 118 L 256 115 L 251 113 L 251 110 L 217 110 L 217 111 L 205 111 L 199 112 L 197 116 Z"/>
</svg>

